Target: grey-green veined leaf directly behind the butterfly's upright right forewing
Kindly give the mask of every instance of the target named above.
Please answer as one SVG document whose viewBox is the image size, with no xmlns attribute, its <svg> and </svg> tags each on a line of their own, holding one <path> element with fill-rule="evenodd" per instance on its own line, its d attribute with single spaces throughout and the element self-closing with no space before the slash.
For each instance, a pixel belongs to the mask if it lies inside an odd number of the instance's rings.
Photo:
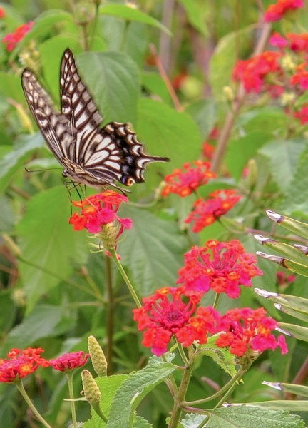
<svg viewBox="0 0 308 428">
<path fill-rule="evenodd" d="M 135 62 L 121 52 L 86 52 L 76 59 L 81 76 L 103 116 L 103 123 L 135 124 L 140 91 Z"/>
</svg>

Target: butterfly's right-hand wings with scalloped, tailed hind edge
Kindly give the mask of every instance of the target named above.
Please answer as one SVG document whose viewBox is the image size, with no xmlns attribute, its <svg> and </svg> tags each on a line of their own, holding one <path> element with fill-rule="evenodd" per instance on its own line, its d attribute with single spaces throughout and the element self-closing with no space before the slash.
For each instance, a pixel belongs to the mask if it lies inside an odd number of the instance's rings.
<svg viewBox="0 0 308 428">
<path fill-rule="evenodd" d="M 101 128 L 101 114 L 81 81 L 70 49 L 61 63 L 61 104 L 76 140 L 68 158 L 83 168 L 83 175 L 88 174 L 89 184 L 113 185 L 116 180 L 124 185 L 140 183 L 148 163 L 169 161 L 145 155 L 126 123 L 111 122 Z"/>
</svg>

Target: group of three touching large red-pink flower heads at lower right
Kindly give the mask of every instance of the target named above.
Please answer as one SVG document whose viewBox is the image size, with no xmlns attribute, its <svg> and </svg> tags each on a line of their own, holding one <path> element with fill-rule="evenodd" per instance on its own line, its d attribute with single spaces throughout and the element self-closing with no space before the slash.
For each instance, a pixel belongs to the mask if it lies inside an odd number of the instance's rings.
<svg viewBox="0 0 308 428">
<path fill-rule="evenodd" d="M 172 338 L 189 347 L 205 344 L 210 335 L 217 335 L 215 345 L 237 357 L 277 347 L 287 352 L 284 336 L 272 334 L 277 322 L 266 317 L 263 308 L 233 309 L 220 315 L 214 307 L 200 306 L 202 296 L 210 289 L 238 297 L 240 285 L 250 287 L 252 277 L 262 275 L 255 262 L 255 256 L 245 253 L 237 240 L 210 240 L 205 247 L 193 247 L 178 272 L 177 282 L 182 285 L 157 290 L 143 298 L 142 307 L 133 310 L 138 330 L 143 331 L 143 345 L 162 355 Z"/>
</svg>

